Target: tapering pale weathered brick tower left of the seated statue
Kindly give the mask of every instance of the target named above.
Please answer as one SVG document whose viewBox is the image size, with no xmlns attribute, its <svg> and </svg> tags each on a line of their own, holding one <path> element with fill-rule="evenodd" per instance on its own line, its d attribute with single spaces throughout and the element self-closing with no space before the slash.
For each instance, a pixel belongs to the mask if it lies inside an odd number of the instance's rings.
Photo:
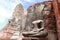
<svg viewBox="0 0 60 40">
<path fill-rule="evenodd" d="M 21 26 L 21 18 L 22 14 L 24 14 L 24 9 L 21 4 L 18 4 L 13 12 L 12 17 L 9 19 L 8 24 L 4 29 L 0 32 L 0 40 L 12 40 L 12 37 L 16 37 L 17 40 L 20 34 L 20 26 Z"/>
</svg>

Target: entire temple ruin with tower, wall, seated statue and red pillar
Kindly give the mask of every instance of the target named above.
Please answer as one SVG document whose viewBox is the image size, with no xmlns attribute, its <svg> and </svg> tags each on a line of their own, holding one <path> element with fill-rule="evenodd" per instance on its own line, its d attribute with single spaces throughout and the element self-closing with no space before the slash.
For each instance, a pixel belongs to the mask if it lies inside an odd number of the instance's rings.
<svg viewBox="0 0 60 40">
<path fill-rule="evenodd" d="M 0 40 L 60 40 L 60 0 L 32 4 L 24 11 L 18 4 Z"/>
</svg>

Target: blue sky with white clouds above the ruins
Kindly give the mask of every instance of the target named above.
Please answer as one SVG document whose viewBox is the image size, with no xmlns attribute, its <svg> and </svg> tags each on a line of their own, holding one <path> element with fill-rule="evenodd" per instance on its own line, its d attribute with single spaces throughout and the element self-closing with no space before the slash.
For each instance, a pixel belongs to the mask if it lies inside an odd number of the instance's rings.
<svg viewBox="0 0 60 40">
<path fill-rule="evenodd" d="M 43 1 L 47 0 L 0 0 L 0 30 L 8 23 L 17 4 L 21 3 L 26 10 L 30 5 Z"/>
</svg>

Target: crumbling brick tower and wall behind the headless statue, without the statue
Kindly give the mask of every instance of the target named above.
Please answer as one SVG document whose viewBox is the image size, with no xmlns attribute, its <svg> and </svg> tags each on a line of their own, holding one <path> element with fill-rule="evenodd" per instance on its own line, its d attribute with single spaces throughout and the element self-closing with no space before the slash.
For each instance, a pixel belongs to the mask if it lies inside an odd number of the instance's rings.
<svg viewBox="0 0 60 40">
<path fill-rule="evenodd" d="M 48 36 L 46 37 L 47 38 L 46 40 L 58 40 L 59 31 L 57 30 L 58 23 L 56 22 L 57 14 L 55 12 L 56 9 L 54 9 L 53 4 L 54 1 L 36 3 L 27 9 L 27 15 L 24 15 L 23 6 L 21 4 L 18 4 L 13 12 L 12 19 L 9 19 L 9 23 L 7 24 L 7 26 L 3 28 L 2 31 L 0 32 L 2 34 L 2 35 L 0 34 L 1 35 L 0 40 L 20 40 L 21 33 L 23 31 L 31 31 L 33 29 L 33 25 L 31 24 L 31 22 L 38 19 L 43 19 L 45 22 L 45 29 L 48 30 Z M 41 7 L 39 7 L 40 5 L 45 5 L 42 14 L 40 13 L 41 9 Z M 17 38 L 12 39 L 12 37 L 14 36 L 16 36 Z M 27 37 L 24 40 L 35 39 L 28 39 Z"/>
</svg>

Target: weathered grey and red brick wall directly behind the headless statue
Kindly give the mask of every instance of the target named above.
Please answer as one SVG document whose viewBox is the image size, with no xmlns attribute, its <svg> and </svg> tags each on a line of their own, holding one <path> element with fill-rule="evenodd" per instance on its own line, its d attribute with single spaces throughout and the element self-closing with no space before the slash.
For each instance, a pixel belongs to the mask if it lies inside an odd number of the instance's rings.
<svg viewBox="0 0 60 40">
<path fill-rule="evenodd" d="M 41 5 L 45 5 L 42 12 L 40 12 Z M 56 40 L 56 21 L 55 21 L 54 11 L 52 10 L 53 10 L 52 2 L 37 3 L 30 6 L 27 9 L 28 13 L 27 13 L 27 18 L 26 18 L 27 20 L 25 25 L 26 31 L 27 32 L 31 31 L 34 28 L 32 24 L 33 21 L 42 19 L 44 20 L 46 29 L 48 29 L 48 31 L 51 32 L 51 35 L 53 36 L 53 38 L 50 39 Z M 50 36 L 50 34 L 48 35 L 49 37 L 52 37 Z"/>
</svg>

